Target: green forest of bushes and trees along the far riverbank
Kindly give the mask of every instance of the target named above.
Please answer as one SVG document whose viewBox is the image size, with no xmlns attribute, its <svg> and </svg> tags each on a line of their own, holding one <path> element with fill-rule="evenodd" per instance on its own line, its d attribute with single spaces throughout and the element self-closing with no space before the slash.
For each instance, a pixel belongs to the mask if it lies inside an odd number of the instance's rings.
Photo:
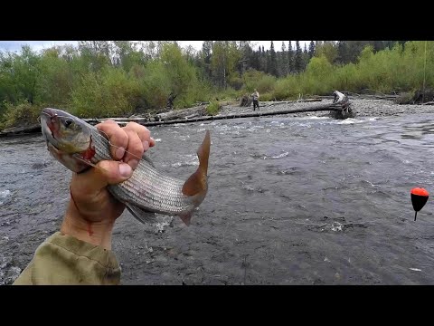
<svg viewBox="0 0 434 326">
<path fill-rule="evenodd" d="M 81 118 L 121 117 L 238 101 L 287 101 L 333 91 L 412 96 L 434 85 L 432 41 L 80 41 L 0 52 L 0 129 L 37 123 L 42 108 Z M 218 111 L 209 106 L 209 114 Z"/>
</svg>

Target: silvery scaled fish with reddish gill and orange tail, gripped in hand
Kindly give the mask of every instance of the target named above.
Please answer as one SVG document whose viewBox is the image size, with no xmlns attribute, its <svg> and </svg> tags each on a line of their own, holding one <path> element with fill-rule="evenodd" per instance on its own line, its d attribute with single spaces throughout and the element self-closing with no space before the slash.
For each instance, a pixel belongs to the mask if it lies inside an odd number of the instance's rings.
<svg viewBox="0 0 434 326">
<path fill-rule="evenodd" d="M 100 160 L 113 159 L 107 136 L 89 123 L 51 108 L 42 110 L 40 120 L 48 150 L 66 168 L 81 172 Z M 207 130 L 197 151 L 199 167 L 186 181 L 162 174 L 144 154 L 133 175 L 120 184 L 109 185 L 109 192 L 144 224 L 154 221 L 158 213 L 180 216 L 189 225 L 193 210 L 202 204 L 208 190 L 210 146 Z"/>
</svg>

